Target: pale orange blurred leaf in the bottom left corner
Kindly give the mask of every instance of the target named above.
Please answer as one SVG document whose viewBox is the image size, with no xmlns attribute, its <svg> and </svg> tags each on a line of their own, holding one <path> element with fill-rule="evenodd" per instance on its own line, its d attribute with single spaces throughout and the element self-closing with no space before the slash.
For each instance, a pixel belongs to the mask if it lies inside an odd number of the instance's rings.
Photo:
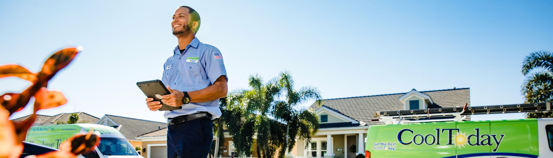
<svg viewBox="0 0 553 158">
<path fill-rule="evenodd" d="M 9 112 L 0 106 L 0 157 L 19 157 L 23 144 L 15 136 L 15 130 L 9 121 Z"/>
</svg>

